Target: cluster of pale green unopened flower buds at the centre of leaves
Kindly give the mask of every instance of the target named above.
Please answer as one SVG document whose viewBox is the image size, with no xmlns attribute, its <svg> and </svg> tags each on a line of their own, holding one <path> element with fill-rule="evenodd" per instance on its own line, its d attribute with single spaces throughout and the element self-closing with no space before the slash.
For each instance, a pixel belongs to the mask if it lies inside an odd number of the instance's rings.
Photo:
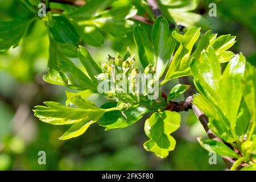
<svg viewBox="0 0 256 182">
<path fill-rule="evenodd" d="M 105 96 L 121 104 L 122 110 L 124 110 L 124 108 L 128 109 L 131 106 L 131 104 L 127 105 L 125 101 L 127 99 L 125 98 L 126 96 L 133 97 L 131 100 L 134 101 L 140 100 L 139 92 L 141 90 L 139 86 L 141 86 L 141 83 L 139 79 L 142 76 L 146 77 L 146 79 L 150 78 L 147 80 L 146 88 L 143 90 L 143 96 L 147 96 L 147 94 L 150 93 L 150 89 L 154 90 L 155 86 L 155 67 L 153 67 L 152 64 L 149 64 L 144 69 L 144 74 L 142 74 L 138 71 L 138 68 L 135 67 L 135 55 L 131 56 L 130 53 L 128 53 L 125 57 L 126 59 L 123 59 L 119 54 L 115 57 L 109 55 L 108 62 L 101 64 L 102 73 L 96 75 L 97 80 L 101 80 L 105 82 L 104 84 L 106 84 L 106 86 L 110 86 L 110 89 L 104 91 Z M 118 79 L 118 75 L 122 77 L 122 80 Z M 123 81 L 125 86 L 120 84 L 121 81 Z"/>
</svg>

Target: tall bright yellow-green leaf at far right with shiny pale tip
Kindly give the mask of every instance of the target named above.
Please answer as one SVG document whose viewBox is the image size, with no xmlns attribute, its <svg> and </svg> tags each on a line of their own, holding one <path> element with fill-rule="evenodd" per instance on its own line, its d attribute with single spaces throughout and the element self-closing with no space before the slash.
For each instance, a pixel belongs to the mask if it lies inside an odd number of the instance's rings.
<svg viewBox="0 0 256 182">
<path fill-rule="evenodd" d="M 234 131 L 242 100 L 242 78 L 245 72 L 245 57 L 236 55 L 226 67 L 220 80 L 220 102 L 222 113 Z"/>
</svg>

